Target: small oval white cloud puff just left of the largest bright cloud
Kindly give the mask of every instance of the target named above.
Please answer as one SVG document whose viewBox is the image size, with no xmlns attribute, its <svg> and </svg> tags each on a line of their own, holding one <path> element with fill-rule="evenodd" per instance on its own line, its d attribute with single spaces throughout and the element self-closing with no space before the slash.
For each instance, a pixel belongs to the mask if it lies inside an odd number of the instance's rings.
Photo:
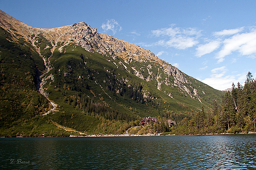
<svg viewBox="0 0 256 170">
<path fill-rule="evenodd" d="M 220 47 L 221 41 L 215 40 L 210 43 L 199 45 L 198 48 L 196 48 L 196 54 L 195 56 L 201 57 L 204 54 L 208 54 L 213 52 L 215 49 L 218 49 Z"/>
</svg>

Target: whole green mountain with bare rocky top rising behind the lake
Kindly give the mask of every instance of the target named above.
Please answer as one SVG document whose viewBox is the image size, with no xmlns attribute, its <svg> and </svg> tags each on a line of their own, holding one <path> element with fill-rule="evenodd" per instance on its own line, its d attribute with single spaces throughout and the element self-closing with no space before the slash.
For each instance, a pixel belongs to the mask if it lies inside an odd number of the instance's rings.
<svg viewBox="0 0 256 170">
<path fill-rule="evenodd" d="M 0 136 L 124 133 L 143 117 L 189 120 L 224 94 L 85 22 L 35 28 L 1 10 L 0 67 Z"/>
</svg>

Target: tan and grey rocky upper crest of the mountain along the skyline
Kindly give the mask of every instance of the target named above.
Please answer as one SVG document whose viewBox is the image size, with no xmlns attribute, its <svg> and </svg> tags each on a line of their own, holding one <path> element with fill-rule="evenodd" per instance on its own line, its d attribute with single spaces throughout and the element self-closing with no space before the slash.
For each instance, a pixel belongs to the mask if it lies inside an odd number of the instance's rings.
<svg viewBox="0 0 256 170">
<path fill-rule="evenodd" d="M 56 44 L 58 42 L 62 42 L 62 46 L 58 47 L 60 51 L 62 51 L 64 46 L 74 43 L 89 52 L 96 52 L 111 56 L 114 60 L 122 58 L 128 65 L 130 65 L 132 61 L 142 64 L 144 63 L 145 67 L 136 68 L 134 66 L 130 66 L 133 70 L 133 74 L 146 81 L 157 80 L 157 87 L 159 90 L 161 90 L 162 84 L 165 84 L 179 87 L 179 89 L 190 96 L 193 94 L 193 91 L 189 90 L 191 87 L 188 87 L 188 84 L 191 83 L 187 78 L 188 76 L 176 67 L 159 59 L 149 49 L 143 49 L 142 47 L 114 38 L 107 34 L 100 34 L 97 32 L 96 28 L 92 28 L 85 22 L 57 28 L 42 29 L 24 24 L 3 11 L 0 11 L 0 19 L 1 26 L 7 27 L 10 32 L 13 32 L 13 34 L 15 34 L 14 31 L 17 31 L 18 34 L 22 35 L 28 42 L 32 43 L 38 52 L 41 49 L 35 45 L 37 40 L 32 35 L 45 37 L 52 45 L 52 52 L 57 47 Z M 12 20 L 12 22 L 9 20 Z M 122 64 L 124 65 L 124 63 Z M 150 67 L 148 67 L 149 64 Z M 124 67 L 127 66 L 124 65 Z M 157 69 L 154 71 L 154 68 Z M 156 72 L 156 70 L 158 71 Z M 173 82 L 162 78 L 165 77 L 162 73 L 169 77 L 173 77 Z"/>
</svg>

